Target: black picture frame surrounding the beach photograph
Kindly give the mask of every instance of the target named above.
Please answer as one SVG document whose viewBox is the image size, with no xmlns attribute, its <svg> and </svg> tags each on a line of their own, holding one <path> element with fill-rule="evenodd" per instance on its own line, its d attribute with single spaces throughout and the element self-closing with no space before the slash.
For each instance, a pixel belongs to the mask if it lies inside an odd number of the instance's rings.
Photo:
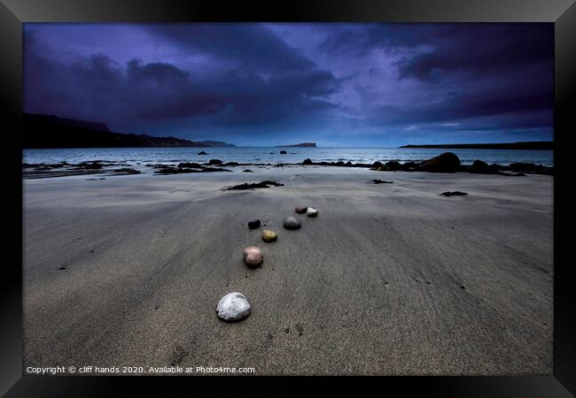
<svg viewBox="0 0 576 398">
<path fill-rule="evenodd" d="M 194 22 L 194 21 L 339 21 L 339 22 L 549 22 L 555 26 L 555 184 L 554 184 L 554 375 L 518 377 L 370 377 L 315 378 L 331 387 L 361 380 L 377 391 L 430 396 L 564 397 L 576 394 L 576 300 L 572 287 L 570 134 L 574 126 L 576 89 L 576 4 L 573 0 L 302 0 L 207 2 L 204 0 L 1 0 L 0 67 L 2 110 L 11 129 L 4 131 L 6 185 L 4 208 L 12 261 L 2 272 L 0 394 L 19 396 L 102 396 L 148 392 L 214 378 L 56 377 L 22 375 L 21 109 L 22 23 L 24 22 Z M 8 133 L 10 131 L 10 133 Z M 4 169 L 4 170 L 5 170 Z M 20 217 L 19 217 L 20 215 Z M 564 233 L 566 233 L 564 235 Z M 572 233 L 573 235 L 573 233 Z M 568 237 L 562 240 L 563 236 Z M 4 258 L 8 258 L 5 256 Z M 254 378 L 253 378 L 254 379 Z M 286 393 L 292 378 L 266 378 L 265 385 Z M 272 383 L 270 383 L 272 382 Z M 237 388 L 237 379 L 216 379 L 218 390 Z M 271 387 L 270 386 L 270 387 Z M 229 390 L 230 391 L 230 390 Z M 231 390 L 230 393 L 233 393 Z"/>
</svg>

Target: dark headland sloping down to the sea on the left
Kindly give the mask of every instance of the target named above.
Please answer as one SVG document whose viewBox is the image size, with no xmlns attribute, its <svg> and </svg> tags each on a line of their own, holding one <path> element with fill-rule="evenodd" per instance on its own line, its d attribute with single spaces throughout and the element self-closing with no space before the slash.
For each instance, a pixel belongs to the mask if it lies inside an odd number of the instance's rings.
<svg viewBox="0 0 576 398">
<path fill-rule="evenodd" d="M 193 142 L 175 137 L 114 133 L 104 123 L 22 114 L 24 148 L 230 147 L 226 142 Z"/>
</svg>

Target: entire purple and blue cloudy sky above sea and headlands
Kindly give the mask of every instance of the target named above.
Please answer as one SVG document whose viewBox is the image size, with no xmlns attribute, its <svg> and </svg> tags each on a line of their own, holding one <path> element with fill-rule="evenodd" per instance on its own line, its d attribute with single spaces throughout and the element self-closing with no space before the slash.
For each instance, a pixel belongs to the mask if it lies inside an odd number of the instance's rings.
<svg viewBox="0 0 576 398">
<path fill-rule="evenodd" d="M 552 140 L 552 24 L 25 24 L 24 111 L 237 145 Z"/>
</svg>

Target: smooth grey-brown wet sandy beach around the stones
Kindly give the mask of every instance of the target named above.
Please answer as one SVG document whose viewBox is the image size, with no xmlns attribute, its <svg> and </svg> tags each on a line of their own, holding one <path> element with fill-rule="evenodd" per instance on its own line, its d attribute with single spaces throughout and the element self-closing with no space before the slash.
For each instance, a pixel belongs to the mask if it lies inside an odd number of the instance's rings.
<svg viewBox="0 0 576 398">
<path fill-rule="evenodd" d="M 554 177 L 244 168 L 24 180 L 24 366 L 552 373 Z M 222 191 L 261 180 L 284 187 Z"/>
</svg>

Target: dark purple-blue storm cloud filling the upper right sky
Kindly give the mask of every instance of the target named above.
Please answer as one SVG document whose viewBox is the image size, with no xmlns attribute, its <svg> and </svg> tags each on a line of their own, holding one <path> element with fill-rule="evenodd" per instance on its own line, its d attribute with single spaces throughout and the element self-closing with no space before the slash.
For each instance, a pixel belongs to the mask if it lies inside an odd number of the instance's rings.
<svg viewBox="0 0 576 398">
<path fill-rule="evenodd" d="M 336 57 L 383 50 L 397 57 L 398 80 L 421 81 L 424 93 L 442 94 L 432 102 L 374 105 L 367 112 L 370 125 L 485 117 L 497 120 L 486 128 L 551 128 L 553 38 L 550 24 L 352 26 L 319 49 Z"/>
</svg>

